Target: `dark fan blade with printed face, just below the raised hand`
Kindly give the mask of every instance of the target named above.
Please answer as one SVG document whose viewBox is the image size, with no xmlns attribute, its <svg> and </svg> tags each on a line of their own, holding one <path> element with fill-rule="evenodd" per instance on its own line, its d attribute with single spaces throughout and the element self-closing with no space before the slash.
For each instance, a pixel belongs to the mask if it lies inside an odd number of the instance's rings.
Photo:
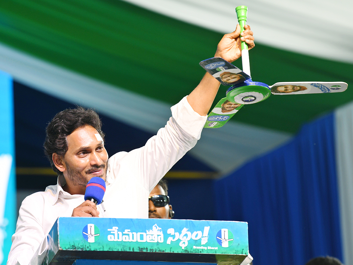
<svg viewBox="0 0 353 265">
<path fill-rule="evenodd" d="M 214 57 L 200 62 L 200 65 L 224 86 L 239 84 L 249 79 L 237 66 L 221 57 Z"/>
</svg>

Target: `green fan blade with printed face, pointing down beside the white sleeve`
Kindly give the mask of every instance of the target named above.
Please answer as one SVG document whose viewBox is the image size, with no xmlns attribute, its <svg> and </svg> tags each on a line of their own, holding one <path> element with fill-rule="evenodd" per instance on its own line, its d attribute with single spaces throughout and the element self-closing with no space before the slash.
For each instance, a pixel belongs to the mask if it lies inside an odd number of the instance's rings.
<svg viewBox="0 0 353 265">
<path fill-rule="evenodd" d="M 208 114 L 203 128 L 220 128 L 243 107 L 243 104 L 233 103 L 227 98 L 221 99 L 213 110 Z"/>
</svg>

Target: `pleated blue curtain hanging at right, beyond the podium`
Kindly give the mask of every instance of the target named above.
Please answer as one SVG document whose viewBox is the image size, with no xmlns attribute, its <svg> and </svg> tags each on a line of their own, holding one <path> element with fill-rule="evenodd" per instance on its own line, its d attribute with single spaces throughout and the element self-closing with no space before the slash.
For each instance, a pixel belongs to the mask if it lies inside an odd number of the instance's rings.
<svg viewBox="0 0 353 265">
<path fill-rule="evenodd" d="M 342 260 L 334 116 L 303 126 L 286 145 L 215 181 L 216 217 L 249 223 L 254 264 Z"/>
</svg>

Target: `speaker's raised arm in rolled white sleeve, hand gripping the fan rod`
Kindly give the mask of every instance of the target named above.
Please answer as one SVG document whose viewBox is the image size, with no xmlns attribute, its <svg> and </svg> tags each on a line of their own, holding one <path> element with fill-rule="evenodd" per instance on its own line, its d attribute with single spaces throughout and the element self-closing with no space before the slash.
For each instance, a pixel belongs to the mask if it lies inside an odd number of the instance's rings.
<svg viewBox="0 0 353 265">
<path fill-rule="evenodd" d="M 241 56 L 240 40 L 245 41 L 249 49 L 254 47 L 250 26 L 245 25 L 244 28 L 241 35 L 239 25 L 234 32 L 224 35 L 217 46 L 215 57 L 222 57 L 229 62 L 238 59 Z M 172 118 L 156 136 L 151 137 L 144 147 L 120 158 L 134 161 L 134 173 L 142 176 L 139 183 L 146 190 L 150 192 L 170 168 L 196 145 L 219 86 L 220 82 L 206 73 L 190 95 L 171 108 Z M 119 168 L 119 163 L 114 156 L 110 158 L 112 176 L 118 173 L 114 168 Z"/>
</svg>

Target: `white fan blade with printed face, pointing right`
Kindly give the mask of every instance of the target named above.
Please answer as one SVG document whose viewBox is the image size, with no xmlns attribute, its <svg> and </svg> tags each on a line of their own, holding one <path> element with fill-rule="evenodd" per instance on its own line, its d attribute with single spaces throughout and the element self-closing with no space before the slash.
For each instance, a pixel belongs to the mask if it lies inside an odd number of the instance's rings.
<svg viewBox="0 0 353 265">
<path fill-rule="evenodd" d="M 343 92 L 347 87 L 345 82 L 279 82 L 270 88 L 274 95 L 293 95 Z"/>
</svg>

